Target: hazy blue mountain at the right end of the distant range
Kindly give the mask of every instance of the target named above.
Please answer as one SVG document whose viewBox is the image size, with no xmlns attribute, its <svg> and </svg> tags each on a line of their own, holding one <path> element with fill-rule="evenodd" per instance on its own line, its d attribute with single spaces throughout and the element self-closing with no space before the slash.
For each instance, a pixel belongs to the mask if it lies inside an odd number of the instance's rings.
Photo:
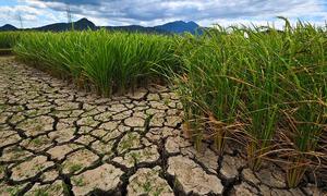
<svg viewBox="0 0 327 196">
<path fill-rule="evenodd" d="M 195 34 L 198 30 L 199 26 L 193 21 L 187 23 L 183 21 L 175 21 L 164 25 L 155 26 L 155 28 L 165 32 L 175 33 L 175 34 L 182 34 L 185 32 Z"/>
</svg>

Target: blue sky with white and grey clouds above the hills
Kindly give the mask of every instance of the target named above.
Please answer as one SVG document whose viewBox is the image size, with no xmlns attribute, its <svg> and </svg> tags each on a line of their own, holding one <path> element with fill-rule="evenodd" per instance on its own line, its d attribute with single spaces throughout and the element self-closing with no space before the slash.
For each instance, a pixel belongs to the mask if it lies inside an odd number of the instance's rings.
<svg viewBox="0 0 327 196">
<path fill-rule="evenodd" d="M 98 26 L 155 26 L 194 21 L 202 26 L 282 25 L 277 16 L 325 26 L 327 0 L 0 0 L 0 26 L 36 27 L 87 17 Z M 20 20 L 21 19 L 21 20 Z"/>
</svg>

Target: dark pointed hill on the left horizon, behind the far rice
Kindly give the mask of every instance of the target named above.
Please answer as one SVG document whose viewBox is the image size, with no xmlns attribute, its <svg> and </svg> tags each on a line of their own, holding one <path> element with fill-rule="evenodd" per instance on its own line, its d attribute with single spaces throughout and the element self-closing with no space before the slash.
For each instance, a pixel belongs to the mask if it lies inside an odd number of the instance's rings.
<svg viewBox="0 0 327 196">
<path fill-rule="evenodd" d="M 76 30 L 85 30 L 85 29 L 96 29 L 96 25 L 88 21 L 87 19 L 81 19 L 80 21 L 76 21 L 74 23 L 55 23 L 37 28 L 33 28 L 35 30 L 44 30 L 44 32 L 64 32 L 70 30 L 74 26 L 74 29 Z"/>
</svg>

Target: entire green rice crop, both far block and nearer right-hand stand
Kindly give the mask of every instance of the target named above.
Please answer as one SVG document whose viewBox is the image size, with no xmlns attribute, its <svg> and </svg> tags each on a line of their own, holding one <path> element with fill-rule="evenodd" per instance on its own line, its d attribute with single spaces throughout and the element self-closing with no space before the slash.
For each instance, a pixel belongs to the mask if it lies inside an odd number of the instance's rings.
<svg viewBox="0 0 327 196">
<path fill-rule="evenodd" d="M 183 106 L 183 133 L 223 155 L 242 147 L 249 167 L 274 162 L 289 188 L 327 175 L 327 30 L 298 22 L 221 27 L 204 35 L 122 32 L 0 33 L 0 48 L 102 97 L 169 84 Z M 325 184 L 326 185 L 326 184 Z"/>
</svg>

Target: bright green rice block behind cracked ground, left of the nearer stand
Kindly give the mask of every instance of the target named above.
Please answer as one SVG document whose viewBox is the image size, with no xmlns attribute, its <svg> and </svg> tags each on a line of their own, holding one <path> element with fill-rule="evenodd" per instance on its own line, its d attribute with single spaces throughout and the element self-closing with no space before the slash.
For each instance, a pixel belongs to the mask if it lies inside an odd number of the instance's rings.
<svg viewBox="0 0 327 196">
<path fill-rule="evenodd" d="M 15 53 L 78 86 L 110 96 L 160 78 L 161 66 L 175 68 L 173 37 L 98 32 L 28 33 Z"/>
</svg>

